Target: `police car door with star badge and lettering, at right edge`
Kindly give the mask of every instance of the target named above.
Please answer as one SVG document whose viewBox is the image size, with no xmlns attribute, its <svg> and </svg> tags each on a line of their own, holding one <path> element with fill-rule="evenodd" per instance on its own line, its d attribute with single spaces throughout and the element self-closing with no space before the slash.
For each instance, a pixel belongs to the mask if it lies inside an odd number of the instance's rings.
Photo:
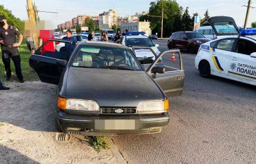
<svg viewBox="0 0 256 164">
<path fill-rule="evenodd" d="M 229 76 L 238 81 L 246 80 L 256 83 L 256 41 L 248 37 L 240 37 L 231 53 Z"/>
</svg>

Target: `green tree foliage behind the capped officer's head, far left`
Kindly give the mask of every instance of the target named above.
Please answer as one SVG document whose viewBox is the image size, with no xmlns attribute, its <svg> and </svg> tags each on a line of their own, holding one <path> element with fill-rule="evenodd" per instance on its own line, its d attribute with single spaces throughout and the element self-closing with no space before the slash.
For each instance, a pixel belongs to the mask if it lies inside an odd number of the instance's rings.
<svg viewBox="0 0 256 164">
<path fill-rule="evenodd" d="M 16 18 L 10 10 L 7 10 L 3 5 L 0 5 L 0 15 L 5 15 L 8 24 L 14 25 L 19 29 L 20 33 L 24 31 L 24 21 Z"/>
</svg>

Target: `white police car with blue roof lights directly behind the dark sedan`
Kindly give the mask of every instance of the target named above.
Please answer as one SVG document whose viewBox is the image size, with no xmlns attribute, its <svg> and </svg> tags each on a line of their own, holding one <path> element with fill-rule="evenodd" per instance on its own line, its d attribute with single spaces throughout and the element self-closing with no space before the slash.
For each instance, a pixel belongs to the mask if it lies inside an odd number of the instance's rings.
<svg viewBox="0 0 256 164">
<path fill-rule="evenodd" d="M 154 42 L 152 42 L 150 38 L 148 38 L 147 36 L 144 36 L 142 33 L 127 32 L 126 36 L 123 36 L 121 38 L 120 43 L 130 48 L 136 47 L 134 49 L 134 53 L 138 59 L 151 58 L 154 61 L 156 55 L 160 54 L 160 51 L 158 50 L 159 45 L 154 44 Z M 143 48 L 151 48 L 155 54 L 153 54 L 150 49 L 143 49 Z"/>
</svg>

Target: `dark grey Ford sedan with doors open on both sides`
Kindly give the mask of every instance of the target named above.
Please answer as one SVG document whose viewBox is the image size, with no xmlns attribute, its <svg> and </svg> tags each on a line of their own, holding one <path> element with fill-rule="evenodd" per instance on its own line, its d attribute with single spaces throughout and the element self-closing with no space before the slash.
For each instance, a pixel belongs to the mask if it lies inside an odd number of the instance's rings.
<svg viewBox="0 0 256 164">
<path fill-rule="evenodd" d="M 69 59 L 57 51 L 49 56 L 38 50 L 30 66 L 42 82 L 59 85 L 58 131 L 105 136 L 157 133 L 169 122 L 167 96 L 183 91 L 181 57 L 179 70 L 166 70 L 161 62 L 170 52 L 179 53 L 164 51 L 142 66 L 126 46 L 82 41 Z"/>
</svg>

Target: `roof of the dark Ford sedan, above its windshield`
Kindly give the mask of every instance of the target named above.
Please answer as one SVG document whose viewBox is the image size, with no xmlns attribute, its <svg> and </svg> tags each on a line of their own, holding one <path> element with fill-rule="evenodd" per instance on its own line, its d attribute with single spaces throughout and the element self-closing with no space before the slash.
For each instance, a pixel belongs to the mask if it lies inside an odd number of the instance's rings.
<svg viewBox="0 0 256 164">
<path fill-rule="evenodd" d="M 101 46 L 106 48 L 119 48 L 119 49 L 129 49 L 127 46 L 121 45 L 121 44 L 115 44 L 112 42 L 100 42 L 100 41 L 81 41 L 80 45 L 86 45 L 86 46 Z"/>
</svg>

